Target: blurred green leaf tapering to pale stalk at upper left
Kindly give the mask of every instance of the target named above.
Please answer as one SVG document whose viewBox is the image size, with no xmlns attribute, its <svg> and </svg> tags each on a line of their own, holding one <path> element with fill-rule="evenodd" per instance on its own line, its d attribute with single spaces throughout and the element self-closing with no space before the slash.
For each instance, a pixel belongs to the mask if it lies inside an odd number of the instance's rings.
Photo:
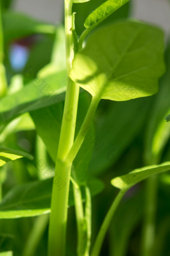
<svg viewBox="0 0 170 256">
<path fill-rule="evenodd" d="M 53 25 L 37 21 L 27 15 L 5 11 L 2 13 L 4 40 L 9 42 L 32 34 L 54 34 Z"/>
</svg>

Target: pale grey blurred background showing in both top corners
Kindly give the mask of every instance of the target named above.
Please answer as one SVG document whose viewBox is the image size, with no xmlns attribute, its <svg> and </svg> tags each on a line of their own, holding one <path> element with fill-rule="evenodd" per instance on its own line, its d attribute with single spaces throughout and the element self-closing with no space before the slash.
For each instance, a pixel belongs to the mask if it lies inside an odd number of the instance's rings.
<svg viewBox="0 0 170 256">
<path fill-rule="evenodd" d="M 169 0 L 130 1 L 133 1 L 132 17 L 158 24 L 166 32 L 170 32 Z M 64 0 L 15 0 L 13 8 L 47 22 L 56 23 L 61 20 L 63 3 Z"/>
</svg>

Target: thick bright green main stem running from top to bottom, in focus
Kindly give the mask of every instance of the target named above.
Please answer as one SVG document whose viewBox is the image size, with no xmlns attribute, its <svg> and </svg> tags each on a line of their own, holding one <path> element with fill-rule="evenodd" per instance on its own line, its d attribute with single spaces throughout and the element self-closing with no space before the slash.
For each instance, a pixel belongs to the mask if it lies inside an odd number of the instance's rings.
<svg viewBox="0 0 170 256">
<path fill-rule="evenodd" d="M 59 138 L 55 176 L 52 186 L 51 213 L 49 220 L 48 256 L 65 255 L 65 234 L 71 162 L 64 161 L 74 140 L 79 87 L 70 81 L 68 74 L 73 59 L 72 3 L 65 0 L 65 46 L 67 89 Z"/>
</svg>

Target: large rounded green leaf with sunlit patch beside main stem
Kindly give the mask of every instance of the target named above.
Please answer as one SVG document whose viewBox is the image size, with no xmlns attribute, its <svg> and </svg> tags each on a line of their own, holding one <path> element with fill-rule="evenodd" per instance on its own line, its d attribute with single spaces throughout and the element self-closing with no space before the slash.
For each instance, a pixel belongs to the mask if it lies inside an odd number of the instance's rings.
<svg viewBox="0 0 170 256">
<path fill-rule="evenodd" d="M 70 78 L 92 96 L 126 101 L 157 92 L 164 72 L 163 35 L 154 27 L 121 22 L 94 32 L 76 54 Z"/>
</svg>

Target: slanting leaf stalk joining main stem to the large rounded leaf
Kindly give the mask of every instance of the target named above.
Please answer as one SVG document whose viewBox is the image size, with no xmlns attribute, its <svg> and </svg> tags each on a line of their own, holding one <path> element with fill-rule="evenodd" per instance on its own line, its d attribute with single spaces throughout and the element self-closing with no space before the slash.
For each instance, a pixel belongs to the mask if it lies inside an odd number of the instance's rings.
<svg viewBox="0 0 170 256">
<path fill-rule="evenodd" d="M 73 146 L 71 147 L 68 155 L 66 156 L 65 160 L 67 162 L 73 162 L 76 154 L 78 153 L 84 138 L 88 132 L 89 125 L 94 117 L 95 110 L 98 106 L 98 103 L 100 101 L 100 97 L 93 97 L 90 103 L 90 106 L 88 108 L 87 114 L 85 116 L 84 122 L 82 123 L 80 130 L 78 132 L 78 135 L 75 138 L 75 141 L 73 143 Z"/>
</svg>

